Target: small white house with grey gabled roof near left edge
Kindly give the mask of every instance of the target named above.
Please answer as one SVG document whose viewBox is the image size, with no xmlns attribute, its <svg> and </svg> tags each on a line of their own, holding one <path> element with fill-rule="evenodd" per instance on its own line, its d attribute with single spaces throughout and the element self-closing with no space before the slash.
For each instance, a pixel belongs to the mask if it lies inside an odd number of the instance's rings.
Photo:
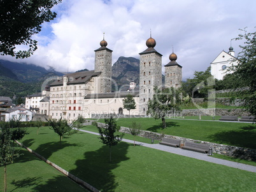
<svg viewBox="0 0 256 192">
<path fill-rule="evenodd" d="M 29 109 L 25 109 L 24 107 L 10 108 L 5 113 L 5 121 L 10 121 L 11 119 L 31 121 L 33 114 L 34 112 L 30 111 Z"/>
</svg>

